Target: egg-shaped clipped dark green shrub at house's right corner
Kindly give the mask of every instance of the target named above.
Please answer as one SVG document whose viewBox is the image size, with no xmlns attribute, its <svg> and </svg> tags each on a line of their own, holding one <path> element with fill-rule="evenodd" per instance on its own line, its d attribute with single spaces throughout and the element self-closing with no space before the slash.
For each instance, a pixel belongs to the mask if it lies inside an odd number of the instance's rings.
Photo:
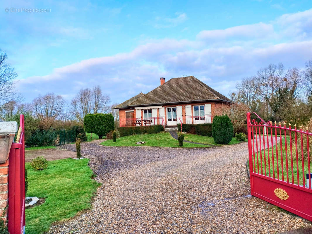
<svg viewBox="0 0 312 234">
<path fill-rule="evenodd" d="M 216 144 L 228 144 L 233 137 L 233 126 L 227 115 L 216 115 L 212 121 L 212 137 Z"/>
</svg>

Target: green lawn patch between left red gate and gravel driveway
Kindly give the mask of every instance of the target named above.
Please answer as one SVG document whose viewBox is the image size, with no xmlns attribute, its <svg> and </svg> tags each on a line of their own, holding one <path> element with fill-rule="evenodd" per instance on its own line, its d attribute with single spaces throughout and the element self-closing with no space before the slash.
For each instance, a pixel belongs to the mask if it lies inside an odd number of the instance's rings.
<svg viewBox="0 0 312 234">
<path fill-rule="evenodd" d="M 43 204 L 26 209 L 25 233 L 48 231 L 52 223 L 74 217 L 91 207 L 91 197 L 100 185 L 91 177 L 89 159 L 61 159 L 48 162 L 48 168 L 36 171 L 26 163 L 27 197 L 45 197 Z"/>
</svg>

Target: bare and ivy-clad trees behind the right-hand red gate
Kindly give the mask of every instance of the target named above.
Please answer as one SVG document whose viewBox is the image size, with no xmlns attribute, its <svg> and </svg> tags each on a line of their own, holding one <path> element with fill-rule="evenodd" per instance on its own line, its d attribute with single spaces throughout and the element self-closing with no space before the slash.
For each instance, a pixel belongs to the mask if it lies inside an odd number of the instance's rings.
<svg viewBox="0 0 312 234">
<path fill-rule="evenodd" d="M 304 69 L 286 69 L 282 63 L 260 68 L 229 96 L 264 120 L 306 124 L 312 117 L 312 60 Z"/>
</svg>

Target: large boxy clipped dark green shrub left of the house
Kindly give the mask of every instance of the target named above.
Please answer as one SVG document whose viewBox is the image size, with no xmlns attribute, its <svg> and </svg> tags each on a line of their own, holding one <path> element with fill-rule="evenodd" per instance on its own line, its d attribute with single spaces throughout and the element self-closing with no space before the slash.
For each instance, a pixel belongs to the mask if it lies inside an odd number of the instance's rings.
<svg viewBox="0 0 312 234">
<path fill-rule="evenodd" d="M 95 133 L 99 139 L 110 130 L 114 130 L 114 117 L 112 114 L 87 114 L 84 118 L 85 131 Z"/>
</svg>

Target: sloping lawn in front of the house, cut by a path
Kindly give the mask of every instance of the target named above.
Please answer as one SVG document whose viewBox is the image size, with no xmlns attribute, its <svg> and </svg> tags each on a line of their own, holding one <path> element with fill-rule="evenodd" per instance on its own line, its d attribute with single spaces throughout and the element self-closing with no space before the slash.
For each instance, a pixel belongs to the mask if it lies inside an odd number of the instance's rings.
<svg viewBox="0 0 312 234">
<path fill-rule="evenodd" d="M 213 141 L 212 137 L 199 136 L 194 134 L 185 134 L 184 139 L 198 143 L 211 144 L 212 146 L 220 146 Z M 113 140 L 107 140 L 100 144 L 104 146 L 140 146 L 138 144 L 135 144 L 138 141 L 145 141 L 146 143 L 143 144 L 143 146 L 179 147 L 178 140 L 174 139 L 168 132 L 125 136 L 117 138 L 116 142 L 113 142 Z M 183 148 L 196 148 L 196 147 L 210 147 L 210 146 L 188 142 L 183 143 Z"/>
</svg>

